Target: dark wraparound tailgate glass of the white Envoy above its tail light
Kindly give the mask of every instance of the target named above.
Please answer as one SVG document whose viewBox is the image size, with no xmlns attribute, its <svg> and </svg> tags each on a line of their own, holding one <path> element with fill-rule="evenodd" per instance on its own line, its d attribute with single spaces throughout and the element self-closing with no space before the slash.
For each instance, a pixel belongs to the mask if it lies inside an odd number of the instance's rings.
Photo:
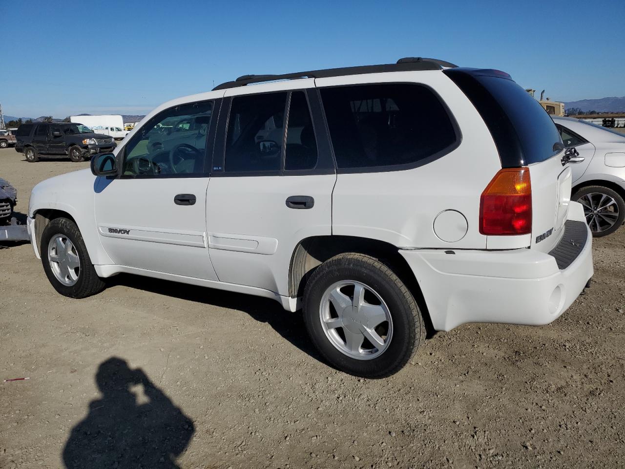
<svg viewBox="0 0 625 469">
<path fill-rule="evenodd" d="M 484 119 L 503 168 L 539 163 L 559 153 L 554 144 L 561 143 L 561 138 L 551 117 L 507 74 L 462 69 L 447 69 L 444 73 Z"/>
</svg>

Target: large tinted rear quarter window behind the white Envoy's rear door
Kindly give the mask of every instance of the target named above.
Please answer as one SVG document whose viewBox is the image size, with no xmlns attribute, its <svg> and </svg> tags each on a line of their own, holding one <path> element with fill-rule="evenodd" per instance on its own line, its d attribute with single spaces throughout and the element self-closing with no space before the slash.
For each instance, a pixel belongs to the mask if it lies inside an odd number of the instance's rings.
<svg viewBox="0 0 625 469">
<path fill-rule="evenodd" d="M 321 89 L 337 168 L 407 169 L 448 153 L 455 126 L 431 89 L 374 84 Z"/>
</svg>

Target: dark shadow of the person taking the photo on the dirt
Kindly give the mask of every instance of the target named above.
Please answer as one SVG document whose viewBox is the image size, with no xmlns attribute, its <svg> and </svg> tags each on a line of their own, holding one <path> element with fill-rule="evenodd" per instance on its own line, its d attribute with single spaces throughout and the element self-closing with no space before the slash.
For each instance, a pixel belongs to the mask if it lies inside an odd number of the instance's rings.
<svg viewBox="0 0 625 469">
<path fill-rule="evenodd" d="M 178 469 L 176 458 L 195 431 L 184 415 L 141 369 L 111 357 L 100 364 L 96 383 L 102 398 L 74 426 L 63 449 L 68 469 Z M 139 403 L 134 386 L 148 402 Z"/>
</svg>

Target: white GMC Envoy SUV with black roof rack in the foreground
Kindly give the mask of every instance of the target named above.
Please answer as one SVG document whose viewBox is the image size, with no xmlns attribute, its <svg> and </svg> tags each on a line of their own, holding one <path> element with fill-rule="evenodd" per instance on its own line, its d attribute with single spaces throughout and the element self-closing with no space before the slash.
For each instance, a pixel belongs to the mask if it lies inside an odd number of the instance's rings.
<svg viewBox="0 0 625 469">
<path fill-rule="evenodd" d="M 149 144 L 183 120 L 176 144 Z M 267 296 L 303 308 L 332 365 L 380 377 L 426 328 L 544 325 L 571 305 L 592 236 L 569 157 L 492 69 L 244 76 L 159 106 L 91 171 L 37 184 L 28 226 L 62 295 L 126 272 Z"/>
</svg>

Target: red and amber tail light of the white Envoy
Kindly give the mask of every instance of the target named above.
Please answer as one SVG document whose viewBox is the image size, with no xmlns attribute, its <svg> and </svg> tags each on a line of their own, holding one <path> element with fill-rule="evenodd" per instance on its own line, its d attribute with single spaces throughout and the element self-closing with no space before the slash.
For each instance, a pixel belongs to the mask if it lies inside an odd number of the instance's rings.
<svg viewBox="0 0 625 469">
<path fill-rule="evenodd" d="M 532 231 L 529 168 L 501 169 L 479 200 L 482 235 L 526 235 Z"/>
</svg>

